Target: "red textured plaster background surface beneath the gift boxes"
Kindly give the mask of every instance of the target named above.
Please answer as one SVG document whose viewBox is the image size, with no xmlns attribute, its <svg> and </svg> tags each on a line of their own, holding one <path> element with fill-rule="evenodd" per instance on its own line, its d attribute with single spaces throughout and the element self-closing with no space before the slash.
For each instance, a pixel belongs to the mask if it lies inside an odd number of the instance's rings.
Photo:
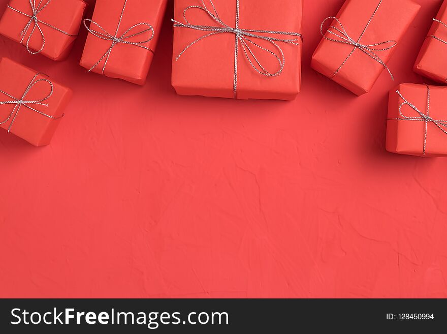
<svg viewBox="0 0 447 334">
<path fill-rule="evenodd" d="M 360 98 L 309 68 L 342 0 L 305 3 L 294 102 L 177 96 L 172 2 L 144 87 L 78 66 L 85 29 L 62 63 L 0 38 L 75 92 L 50 146 L 0 132 L 0 296 L 447 297 L 447 159 L 384 149 L 388 91 L 425 81 L 418 2 Z"/>
</svg>

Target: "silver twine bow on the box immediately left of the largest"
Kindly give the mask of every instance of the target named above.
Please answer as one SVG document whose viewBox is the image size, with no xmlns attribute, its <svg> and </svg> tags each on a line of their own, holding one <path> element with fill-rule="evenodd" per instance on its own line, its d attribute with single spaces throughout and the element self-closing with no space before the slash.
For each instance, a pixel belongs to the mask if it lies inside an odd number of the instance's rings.
<svg viewBox="0 0 447 334">
<path fill-rule="evenodd" d="M 102 71 L 102 74 L 104 74 L 104 71 L 105 71 L 106 66 L 107 66 L 107 62 L 108 62 L 109 57 L 110 57 L 110 53 L 112 52 L 112 49 L 115 47 L 115 45 L 118 44 L 118 43 L 121 43 L 121 44 L 129 44 L 129 45 L 135 45 L 135 46 L 138 46 L 138 47 L 140 47 L 140 48 L 146 49 L 146 50 L 148 50 L 148 51 L 150 51 L 150 52 L 153 53 L 153 50 L 151 50 L 151 49 L 148 48 L 147 46 L 143 45 L 143 44 L 145 44 L 145 43 L 150 42 L 150 41 L 153 39 L 153 37 L 154 37 L 154 29 L 153 29 L 152 25 L 150 25 L 149 23 L 145 23 L 145 22 L 137 23 L 137 24 L 131 26 L 129 29 L 127 29 L 121 36 L 118 36 L 118 30 L 119 30 L 119 27 L 120 27 L 120 25 L 121 25 L 121 20 L 122 20 L 122 17 L 123 17 L 123 15 L 124 15 L 124 10 L 125 10 L 125 6 L 126 6 L 126 4 L 127 4 L 127 0 L 124 1 L 124 5 L 123 5 L 123 7 L 122 7 L 122 11 L 121 11 L 121 15 L 120 15 L 120 17 L 119 17 L 118 25 L 117 25 L 117 27 L 116 27 L 115 35 L 111 35 L 111 34 L 109 34 L 109 33 L 106 31 L 106 29 L 104 29 L 101 25 L 99 25 L 99 24 L 98 24 L 97 22 L 95 22 L 95 21 L 92 21 L 92 20 L 90 20 L 90 19 L 85 19 L 85 20 L 84 20 L 84 26 L 87 28 L 87 30 L 88 30 L 88 32 L 89 32 L 90 34 L 92 34 L 93 36 L 96 36 L 96 37 L 98 37 L 98 38 L 101 38 L 101 39 L 103 39 L 103 40 L 111 41 L 111 42 L 112 42 L 112 45 L 110 46 L 110 48 L 104 53 L 104 55 L 100 58 L 100 60 L 98 60 L 98 62 L 97 62 L 96 64 L 94 64 L 94 65 L 88 70 L 88 72 L 90 72 L 90 71 L 93 70 L 95 67 L 97 67 L 97 66 L 102 62 L 102 60 L 103 60 L 104 58 L 106 58 L 106 61 L 104 62 L 104 66 L 103 66 L 103 71 Z M 87 26 L 87 24 L 85 23 L 86 21 L 89 21 L 89 22 L 90 22 L 90 27 Z M 91 28 L 91 25 L 92 25 L 92 24 L 98 26 L 98 27 L 101 29 L 101 31 L 95 31 L 95 30 L 93 30 L 93 29 Z M 144 30 L 142 30 L 142 31 L 139 31 L 139 32 L 137 32 L 137 33 L 134 33 L 134 34 L 127 35 L 127 34 L 129 34 L 133 29 L 135 29 L 136 27 L 138 27 L 138 26 L 140 26 L 140 25 L 145 25 L 145 26 L 147 26 L 148 28 L 146 28 L 146 29 L 144 29 Z M 152 35 L 151 35 L 151 37 L 148 38 L 147 40 L 144 40 L 144 41 L 141 41 L 141 42 L 130 42 L 130 41 L 128 41 L 128 39 L 130 39 L 130 38 L 132 38 L 132 37 L 135 37 L 135 36 L 138 36 L 138 35 L 141 35 L 141 34 L 150 32 L 150 31 L 152 32 Z"/>
</svg>

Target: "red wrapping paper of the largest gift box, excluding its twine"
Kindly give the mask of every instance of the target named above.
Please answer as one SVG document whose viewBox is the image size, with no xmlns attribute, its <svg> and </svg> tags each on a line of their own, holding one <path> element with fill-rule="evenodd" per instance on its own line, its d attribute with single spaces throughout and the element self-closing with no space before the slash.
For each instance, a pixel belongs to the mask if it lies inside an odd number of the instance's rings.
<svg viewBox="0 0 447 334">
<path fill-rule="evenodd" d="M 205 4 L 212 10 L 209 0 Z M 235 27 L 236 0 L 213 0 L 213 4 L 221 20 L 230 27 Z M 176 0 L 174 9 L 176 21 L 184 22 L 183 10 L 188 6 L 202 6 L 202 3 L 199 0 Z M 301 33 L 302 6 L 301 0 L 281 1 L 277 6 L 272 6 L 269 0 L 240 0 L 239 28 Z M 195 25 L 219 26 L 201 10 L 188 11 L 187 19 Z M 206 34 L 207 32 L 189 28 L 174 28 L 172 85 L 180 95 L 234 98 L 235 34 L 225 33 L 206 37 L 188 48 L 176 60 L 188 44 Z M 280 34 L 265 34 L 265 36 L 296 38 Z M 277 52 L 265 40 L 252 39 L 252 41 Z M 285 63 L 282 73 L 276 77 L 266 77 L 256 72 L 239 44 L 238 99 L 295 99 L 300 91 L 302 43 L 301 40 L 298 41 L 298 46 L 277 43 L 284 53 Z M 278 62 L 271 54 L 260 52 L 256 47 L 253 51 L 269 72 L 274 73 L 278 70 Z"/>
</svg>

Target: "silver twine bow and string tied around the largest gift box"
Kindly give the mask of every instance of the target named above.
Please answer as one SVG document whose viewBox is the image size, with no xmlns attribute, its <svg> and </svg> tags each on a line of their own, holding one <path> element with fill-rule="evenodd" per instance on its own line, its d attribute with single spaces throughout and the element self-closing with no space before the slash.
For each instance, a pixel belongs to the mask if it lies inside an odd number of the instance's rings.
<svg viewBox="0 0 447 334">
<path fill-rule="evenodd" d="M 211 6 L 212 6 L 212 11 L 211 12 L 205 5 L 205 2 L 203 0 L 200 0 L 200 2 L 202 3 L 202 6 L 189 6 L 186 7 L 185 10 L 183 11 L 183 19 L 185 20 L 186 23 L 181 23 L 179 21 L 176 21 L 174 19 L 171 19 L 171 21 L 174 22 L 174 27 L 181 27 L 181 28 L 189 28 L 189 29 L 194 29 L 194 30 L 199 30 L 199 31 L 203 31 L 203 32 L 210 32 L 198 39 L 196 39 L 195 41 L 191 42 L 190 44 L 188 44 L 183 51 L 181 51 L 176 60 L 178 60 L 178 58 L 180 58 L 180 56 L 191 46 L 193 46 L 194 44 L 196 44 L 197 42 L 203 40 L 206 37 L 209 36 L 213 36 L 213 35 L 217 35 L 217 34 L 224 34 L 224 33 L 230 33 L 230 34 L 234 34 L 236 36 L 235 38 L 235 52 L 234 52 L 234 82 L 233 82 L 233 92 L 234 92 L 234 97 L 235 99 L 237 98 L 236 93 L 237 93 L 237 70 L 238 70 L 238 46 L 239 43 L 242 46 L 242 49 L 245 53 L 245 57 L 248 59 L 248 62 L 250 63 L 251 67 L 258 73 L 267 76 L 267 77 L 276 77 L 279 76 L 282 73 L 282 70 L 284 69 L 284 64 L 285 64 L 285 57 L 284 57 L 284 53 L 281 49 L 281 47 L 276 43 L 276 42 L 284 42 L 284 43 L 289 43 L 289 44 L 294 44 L 294 45 L 298 45 L 297 41 L 302 41 L 302 35 L 299 33 L 290 33 L 290 32 L 278 32 L 278 31 L 270 31 L 270 30 L 253 30 L 253 29 L 242 29 L 239 28 L 239 0 L 236 0 L 236 26 L 232 27 L 230 25 L 228 25 L 227 23 L 223 22 L 220 17 L 219 14 L 216 11 L 216 8 L 214 7 L 214 4 L 212 2 L 212 0 L 209 0 Z M 191 24 L 187 19 L 186 19 L 186 12 L 192 8 L 197 8 L 200 9 L 202 11 L 204 11 L 206 14 L 208 14 L 209 17 L 211 17 L 218 25 L 217 26 L 209 26 L 209 25 L 196 25 L 196 24 Z M 273 35 L 288 35 L 288 36 L 296 36 L 298 38 L 294 38 L 294 39 L 282 39 L 282 38 L 275 38 L 275 37 L 270 37 L 270 36 L 263 36 L 260 34 L 273 34 Z M 279 55 L 276 54 L 275 52 L 262 47 L 261 45 L 253 42 L 251 40 L 251 38 L 253 39 L 261 39 L 261 40 L 265 40 L 269 43 L 271 43 L 276 50 L 279 52 Z M 273 55 L 276 60 L 278 61 L 279 64 L 279 70 L 275 73 L 271 73 L 268 70 L 265 69 L 265 67 L 261 64 L 260 60 L 256 57 L 256 55 L 254 54 L 254 51 L 250 48 L 249 44 L 251 44 L 251 46 L 253 47 L 257 47 L 265 52 L 270 53 L 271 55 Z"/>
</svg>

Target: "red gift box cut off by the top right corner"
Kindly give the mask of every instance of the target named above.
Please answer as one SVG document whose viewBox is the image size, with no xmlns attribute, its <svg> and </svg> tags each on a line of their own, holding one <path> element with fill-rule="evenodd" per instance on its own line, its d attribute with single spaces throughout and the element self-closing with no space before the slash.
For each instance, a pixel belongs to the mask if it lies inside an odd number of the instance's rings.
<svg viewBox="0 0 447 334">
<path fill-rule="evenodd" d="M 447 1 L 442 3 L 436 20 L 421 47 L 414 72 L 447 83 Z"/>
</svg>

